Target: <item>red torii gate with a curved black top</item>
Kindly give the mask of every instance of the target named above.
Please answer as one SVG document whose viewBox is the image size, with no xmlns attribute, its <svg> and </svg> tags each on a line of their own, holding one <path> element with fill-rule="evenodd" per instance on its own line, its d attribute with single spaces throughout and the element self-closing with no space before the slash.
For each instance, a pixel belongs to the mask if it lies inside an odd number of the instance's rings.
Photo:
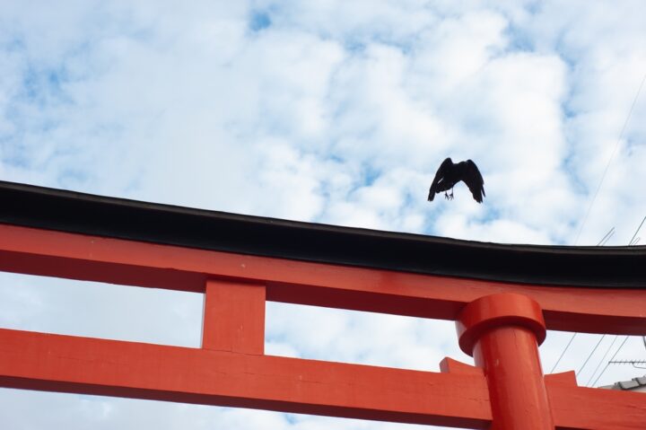
<svg viewBox="0 0 646 430">
<path fill-rule="evenodd" d="M 547 329 L 646 335 L 646 251 L 498 245 L 0 182 L 0 270 L 205 294 L 202 347 L 0 329 L 0 386 L 495 430 L 642 429 L 544 376 Z M 266 301 L 456 320 L 441 373 L 264 354 Z"/>
</svg>

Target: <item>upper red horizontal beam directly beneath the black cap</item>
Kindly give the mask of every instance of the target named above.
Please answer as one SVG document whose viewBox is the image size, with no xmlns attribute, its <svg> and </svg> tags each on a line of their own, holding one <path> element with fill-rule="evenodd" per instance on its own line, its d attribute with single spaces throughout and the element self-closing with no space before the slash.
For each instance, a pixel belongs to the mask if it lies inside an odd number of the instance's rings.
<svg viewBox="0 0 646 430">
<path fill-rule="evenodd" d="M 456 320 L 479 297 L 519 293 L 540 304 L 548 329 L 646 335 L 646 289 L 504 284 L 7 224 L 0 224 L 0 270 L 194 292 L 204 292 L 207 277 L 234 278 L 265 284 L 270 301 L 442 320 Z"/>
</svg>

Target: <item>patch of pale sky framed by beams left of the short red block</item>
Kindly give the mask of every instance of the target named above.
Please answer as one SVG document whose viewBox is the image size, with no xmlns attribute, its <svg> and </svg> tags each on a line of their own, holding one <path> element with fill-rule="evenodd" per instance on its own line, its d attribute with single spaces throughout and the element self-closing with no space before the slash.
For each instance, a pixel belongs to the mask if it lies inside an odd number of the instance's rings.
<svg viewBox="0 0 646 430">
<path fill-rule="evenodd" d="M 199 347 L 202 294 L 0 273 L 0 326 Z"/>
</svg>

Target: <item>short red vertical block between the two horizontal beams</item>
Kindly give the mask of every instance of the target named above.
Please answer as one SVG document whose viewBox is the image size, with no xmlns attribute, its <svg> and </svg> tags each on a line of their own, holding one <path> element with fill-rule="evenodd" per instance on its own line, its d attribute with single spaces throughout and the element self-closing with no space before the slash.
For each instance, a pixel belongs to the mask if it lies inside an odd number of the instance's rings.
<svg viewBox="0 0 646 430">
<path fill-rule="evenodd" d="M 202 347 L 263 354 L 265 285 L 207 280 Z"/>
</svg>

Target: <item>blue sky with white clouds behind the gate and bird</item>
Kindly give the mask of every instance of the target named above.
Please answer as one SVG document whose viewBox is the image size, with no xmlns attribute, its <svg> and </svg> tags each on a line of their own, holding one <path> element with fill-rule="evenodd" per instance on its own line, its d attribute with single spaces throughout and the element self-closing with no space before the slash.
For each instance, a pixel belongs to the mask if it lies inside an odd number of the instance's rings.
<svg viewBox="0 0 646 430">
<path fill-rule="evenodd" d="M 642 6 L 0 0 L 0 180 L 474 241 L 596 245 L 614 228 L 606 245 L 627 245 L 646 216 Z M 482 205 L 464 184 L 426 201 L 447 156 L 476 162 Z M 201 309 L 200 294 L 0 273 L 4 328 L 198 347 Z M 570 338 L 548 333 L 546 372 Z M 614 339 L 577 335 L 555 370 L 594 382 Z M 452 321 L 278 303 L 266 350 L 471 363 Z M 646 359 L 642 339 L 615 359 Z M 595 385 L 644 373 L 610 365 Z M 0 427 L 44 426 L 418 428 L 0 390 Z"/>
</svg>

